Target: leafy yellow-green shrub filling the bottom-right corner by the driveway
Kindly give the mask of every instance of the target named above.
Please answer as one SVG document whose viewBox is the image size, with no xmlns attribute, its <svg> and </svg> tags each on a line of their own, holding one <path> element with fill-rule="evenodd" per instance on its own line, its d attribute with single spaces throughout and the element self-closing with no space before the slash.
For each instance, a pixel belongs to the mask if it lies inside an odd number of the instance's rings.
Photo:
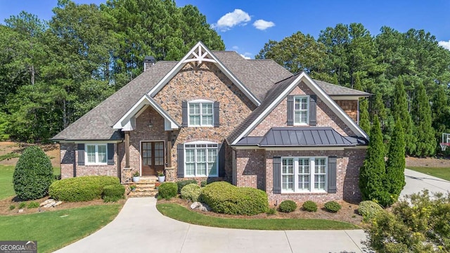
<svg viewBox="0 0 450 253">
<path fill-rule="evenodd" d="M 376 252 L 449 252 L 450 196 L 409 195 L 367 223 L 365 245 Z"/>
</svg>

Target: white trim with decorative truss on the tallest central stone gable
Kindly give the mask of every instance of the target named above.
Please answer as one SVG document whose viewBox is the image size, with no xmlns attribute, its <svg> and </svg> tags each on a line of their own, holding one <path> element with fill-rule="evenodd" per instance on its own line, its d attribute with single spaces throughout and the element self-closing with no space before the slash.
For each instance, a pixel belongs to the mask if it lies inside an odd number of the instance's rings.
<svg viewBox="0 0 450 253">
<path fill-rule="evenodd" d="M 198 53 L 195 51 L 198 51 Z M 204 51 L 204 53 L 202 53 L 202 51 Z M 221 70 L 221 72 L 224 72 L 226 77 L 231 79 L 231 82 L 233 82 L 233 84 L 236 84 L 236 86 L 238 86 L 238 89 L 240 89 L 240 91 L 242 91 L 253 103 L 255 103 L 255 105 L 259 106 L 261 104 L 259 99 L 255 95 L 253 95 L 253 93 L 249 89 L 247 89 L 247 87 L 243 85 L 238 80 L 238 78 L 236 78 L 231 73 L 231 71 L 228 70 L 225 65 L 221 63 L 220 60 L 216 56 L 214 56 L 214 54 L 201 41 L 198 41 L 198 43 L 193 46 L 191 51 L 189 51 L 186 56 L 184 56 L 184 58 L 176 63 L 172 70 L 170 70 L 165 75 L 165 77 L 162 77 L 160 82 L 158 82 L 158 84 L 156 84 L 153 89 L 148 91 L 148 95 L 152 98 L 156 96 L 156 94 L 169 82 L 170 79 L 172 79 L 172 77 L 174 77 L 181 70 L 182 67 L 184 67 L 184 65 L 186 65 L 186 63 L 190 63 L 193 61 L 197 61 L 199 64 L 201 64 L 203 61 L 215 63 L 217 67 L 219 67 L 219 70 Z"/>
</svg>

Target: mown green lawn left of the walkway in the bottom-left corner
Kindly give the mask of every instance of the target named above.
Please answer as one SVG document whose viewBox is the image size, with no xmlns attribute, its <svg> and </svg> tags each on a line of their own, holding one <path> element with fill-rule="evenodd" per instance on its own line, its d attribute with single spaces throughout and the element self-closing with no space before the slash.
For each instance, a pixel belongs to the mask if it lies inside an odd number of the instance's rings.
<svg viewBox="0 0 450 253">
<path fill-rule="evenodd" d="M 0 240 L 37 240 L 39 252 L 53 252 L 112 221 L 121 205 L 99 205 L 54 212 L 0 216 Z"/>
</svg>

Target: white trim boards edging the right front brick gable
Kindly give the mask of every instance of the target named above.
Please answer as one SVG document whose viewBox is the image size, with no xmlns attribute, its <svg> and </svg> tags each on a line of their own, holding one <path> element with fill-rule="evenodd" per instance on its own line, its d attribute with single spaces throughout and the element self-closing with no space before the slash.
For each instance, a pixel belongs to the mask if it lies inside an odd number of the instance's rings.
<svg viewBox="0 0 450 253">
<path fill-rule="evenodd" d="M 288 86 L 287 89 L 285 89 L 280 96 L 278 96 L 278 98 L 276 98 L 274 100 L 274 102 L 272 102 L 267 108 L 266 110 L 264 110 L 264 112 L 261 113 L 261 115 L 259 115 L 257 117 L 257 119 L 255 119 L 255 121 L 252 122 L 252 124 L 250 124 L 250 126 L 248 126 L 247 129 L 245 129 L 239 136 L 238 138 L 236 138 L 231 145 L 236 145 L 236 143 L 238 143 L 238 141 L 247 136 L 248 134 L 250 134 L 250 132 L 255 129 L 255 127 L 262 122 L 262 120 L 267 117 L 267 115 L 270 114 L 270 112 L 272 110 L 274 110 L 274 108 L 276 108 L 276 106 L 281 103 L 281 100 L 283 100 L 284 98 L 286 98 L 288 96 L 288 94 L 293 91 L 293 89 L 295 88 L 295 86 L 297 86 L 298 84 L 300 84 L 300 82 L 304 81 L 304 83 L 309 87 L 309 89 L 311 89 L 319 98 L 321 98 L 321 100 L 323 101 L 323 103 L 325 103 L 328 108 L 330 108 L 333 112 L 335 112 L 336 115 L 338 115 L 338 117 L 342 120 L 342 122 L 344 122 L 347 126 L 349 126 L 349 128 L 354 132 L 354 134 L 356 134 L 359 137 L 364 137 L 366 139 L 368 139 L 368 135 L 364 132 L 364 130 L 362 130 L 357 124 L 356 122 L 353 121 L 353 119 L 351 119 L 349 117 L 349 115 L 347 115 L 347 113 L 344 112 L 344 110 L 342 110 L 342 108 L 340 108 L 340 106 L 333 100 L 330 98 L 330 96 L 328 96 L 326 94 L 325 91 L 323 91 L 323 89 L 316 84 L 316 82 L 314 82 L 313 79 L 311 79 L 311 77 L 308 76 L 308 74 L 306 74 L 305 72 L 302 72 L 301 74 L 299 74 L 299 76 L 297 78 L 295 78 L 295 80 Z"/>
</svg>

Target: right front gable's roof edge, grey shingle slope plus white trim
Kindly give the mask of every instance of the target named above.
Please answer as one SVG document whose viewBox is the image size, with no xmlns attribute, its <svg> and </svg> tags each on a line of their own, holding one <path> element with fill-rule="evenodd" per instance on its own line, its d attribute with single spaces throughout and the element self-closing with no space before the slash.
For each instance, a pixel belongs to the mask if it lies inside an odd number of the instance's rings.
<svg viewBox="0 0 450 253">
<path fill-rule="evenodd" d="M 338 115 L 342 122 L 347 124 L 347 126 L 354 131 L 354 134 L 356 134 L 357 137 L 368 139 L 366 132 L 364 132 L 364 130 L 362 130 L 358 124 L 356 124 L 349 117 L 349 115 L 347 115 L 342 108 L 340 108 L 340 106 L 330 98 L 330 96 L 328 96 L 321 86 L 314 82 L 314 79 L 311 79 L 308 74 L 302 72 L 275 84 L 271 91 L 267 94 L 266 99 L 262 102 L 262 104 L 255 109 L 247 117 L 247 119 L 240 124 L 240 126 L 236 127 L 236 129 L 231 132 L 227 138 L 227 141 L 229 141 L 231 145 L 236 145 L 241 138 L 248 136 L 248 134 L 250 134 L 250 132 L 255 129 L 255 127 L 262 122 L 267 115 L 269 115 L 269 113 L 281 102 L 281 100 L 288 96 L 288 94 L 293 91 L 295 86 L 300 84 L 302 81 L 309 86 L 311 91 L 316 93 L 316 95 L 323 100 L 323 103 L 325 103 L 331 110 L 333 110 L 333 112 L 335 112 L 336 115 Z"/>
</svg>

